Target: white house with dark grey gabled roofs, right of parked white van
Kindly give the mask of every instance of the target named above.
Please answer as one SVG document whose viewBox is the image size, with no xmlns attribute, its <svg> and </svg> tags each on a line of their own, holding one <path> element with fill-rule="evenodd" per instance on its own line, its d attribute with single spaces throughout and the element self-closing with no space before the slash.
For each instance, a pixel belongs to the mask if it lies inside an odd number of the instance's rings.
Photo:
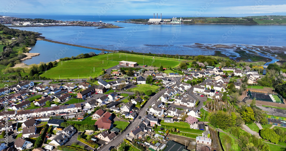
<svg viewBox="0 0 286 151">
<path fill-rule="evenodd" d="M 76 128 L 73 127 L 72 125 L 69 125 L 65 129 L 63 129 L 63 131 L 61 131 L 61 133 L 59 133 L 57 136 L 55 136 L 49 144 L 53 145 L 53 146 L 62 146 L 75 133 L 76 133 Z"/>
</svg>

